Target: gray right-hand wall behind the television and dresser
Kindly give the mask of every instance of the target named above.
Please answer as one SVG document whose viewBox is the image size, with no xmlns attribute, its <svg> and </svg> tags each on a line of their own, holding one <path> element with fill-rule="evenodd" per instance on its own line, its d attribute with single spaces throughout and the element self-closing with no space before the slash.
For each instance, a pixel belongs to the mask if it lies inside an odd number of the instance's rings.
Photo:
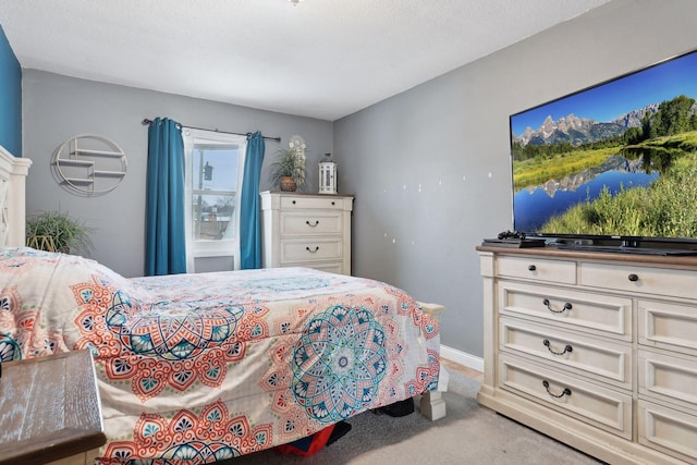
<svg viewBox="0 0 697 465">
<path fill-rule="evenodd" d="M 445 305 L 482 355 L 475 247 L 511 229 L 509 115 L 697 48 L 697 1 L 615 0 L 334 123 L 355 274 Z"/>
</svg>

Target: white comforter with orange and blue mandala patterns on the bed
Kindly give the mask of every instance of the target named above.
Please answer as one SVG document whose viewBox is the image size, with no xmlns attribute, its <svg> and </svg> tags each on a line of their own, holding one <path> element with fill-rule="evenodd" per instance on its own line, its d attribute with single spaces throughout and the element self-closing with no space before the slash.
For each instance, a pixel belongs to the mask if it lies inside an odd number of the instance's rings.
<svg viewBox="0 0 697 465">
<path fill-rule="evenodd" d="M 88 348 L 105 465 L 199 464 L 436 388 L 438 323 L 403 291 L 304 268 L 125 279 L 0 253 L 2 362 Z"/>
</svg>

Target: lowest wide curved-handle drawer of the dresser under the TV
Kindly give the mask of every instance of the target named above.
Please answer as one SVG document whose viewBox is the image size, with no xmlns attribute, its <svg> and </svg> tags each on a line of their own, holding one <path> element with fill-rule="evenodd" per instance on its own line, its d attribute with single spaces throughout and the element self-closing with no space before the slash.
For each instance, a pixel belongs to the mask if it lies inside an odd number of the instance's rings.
<svg viewBox="0 0 697 465">
<path fill-rule="evenodd" d="M 499 356 L 499 387 L 584 423 L 632 439 L 632 396 L 506 355 Z"/>
</svg>

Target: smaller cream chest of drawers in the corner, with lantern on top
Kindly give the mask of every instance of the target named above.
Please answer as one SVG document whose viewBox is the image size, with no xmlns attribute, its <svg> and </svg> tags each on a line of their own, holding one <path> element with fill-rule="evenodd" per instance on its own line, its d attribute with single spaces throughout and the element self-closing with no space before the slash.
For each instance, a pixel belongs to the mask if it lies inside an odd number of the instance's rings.
<svg viewBox="0 0 697 465">
<path fill-rule="evenodd" d="M 351 274 L 348 195 L 261 193 L 262 262 Z"/>
</svg>

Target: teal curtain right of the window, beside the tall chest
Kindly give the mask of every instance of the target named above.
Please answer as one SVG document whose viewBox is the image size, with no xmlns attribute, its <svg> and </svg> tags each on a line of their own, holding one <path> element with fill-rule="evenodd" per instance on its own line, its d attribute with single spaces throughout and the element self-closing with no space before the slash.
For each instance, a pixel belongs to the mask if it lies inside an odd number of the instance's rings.
<svg viewBox="0 0 697 465">
<path fill-rule="evenodd" d="M 240 266 L 243 270 L 261 268 L 261 225 L 259 219 L 259 180 L 264 163 L 264 137 L 247 134 L 244 181 L 240 200 Z"/>
</svg>

